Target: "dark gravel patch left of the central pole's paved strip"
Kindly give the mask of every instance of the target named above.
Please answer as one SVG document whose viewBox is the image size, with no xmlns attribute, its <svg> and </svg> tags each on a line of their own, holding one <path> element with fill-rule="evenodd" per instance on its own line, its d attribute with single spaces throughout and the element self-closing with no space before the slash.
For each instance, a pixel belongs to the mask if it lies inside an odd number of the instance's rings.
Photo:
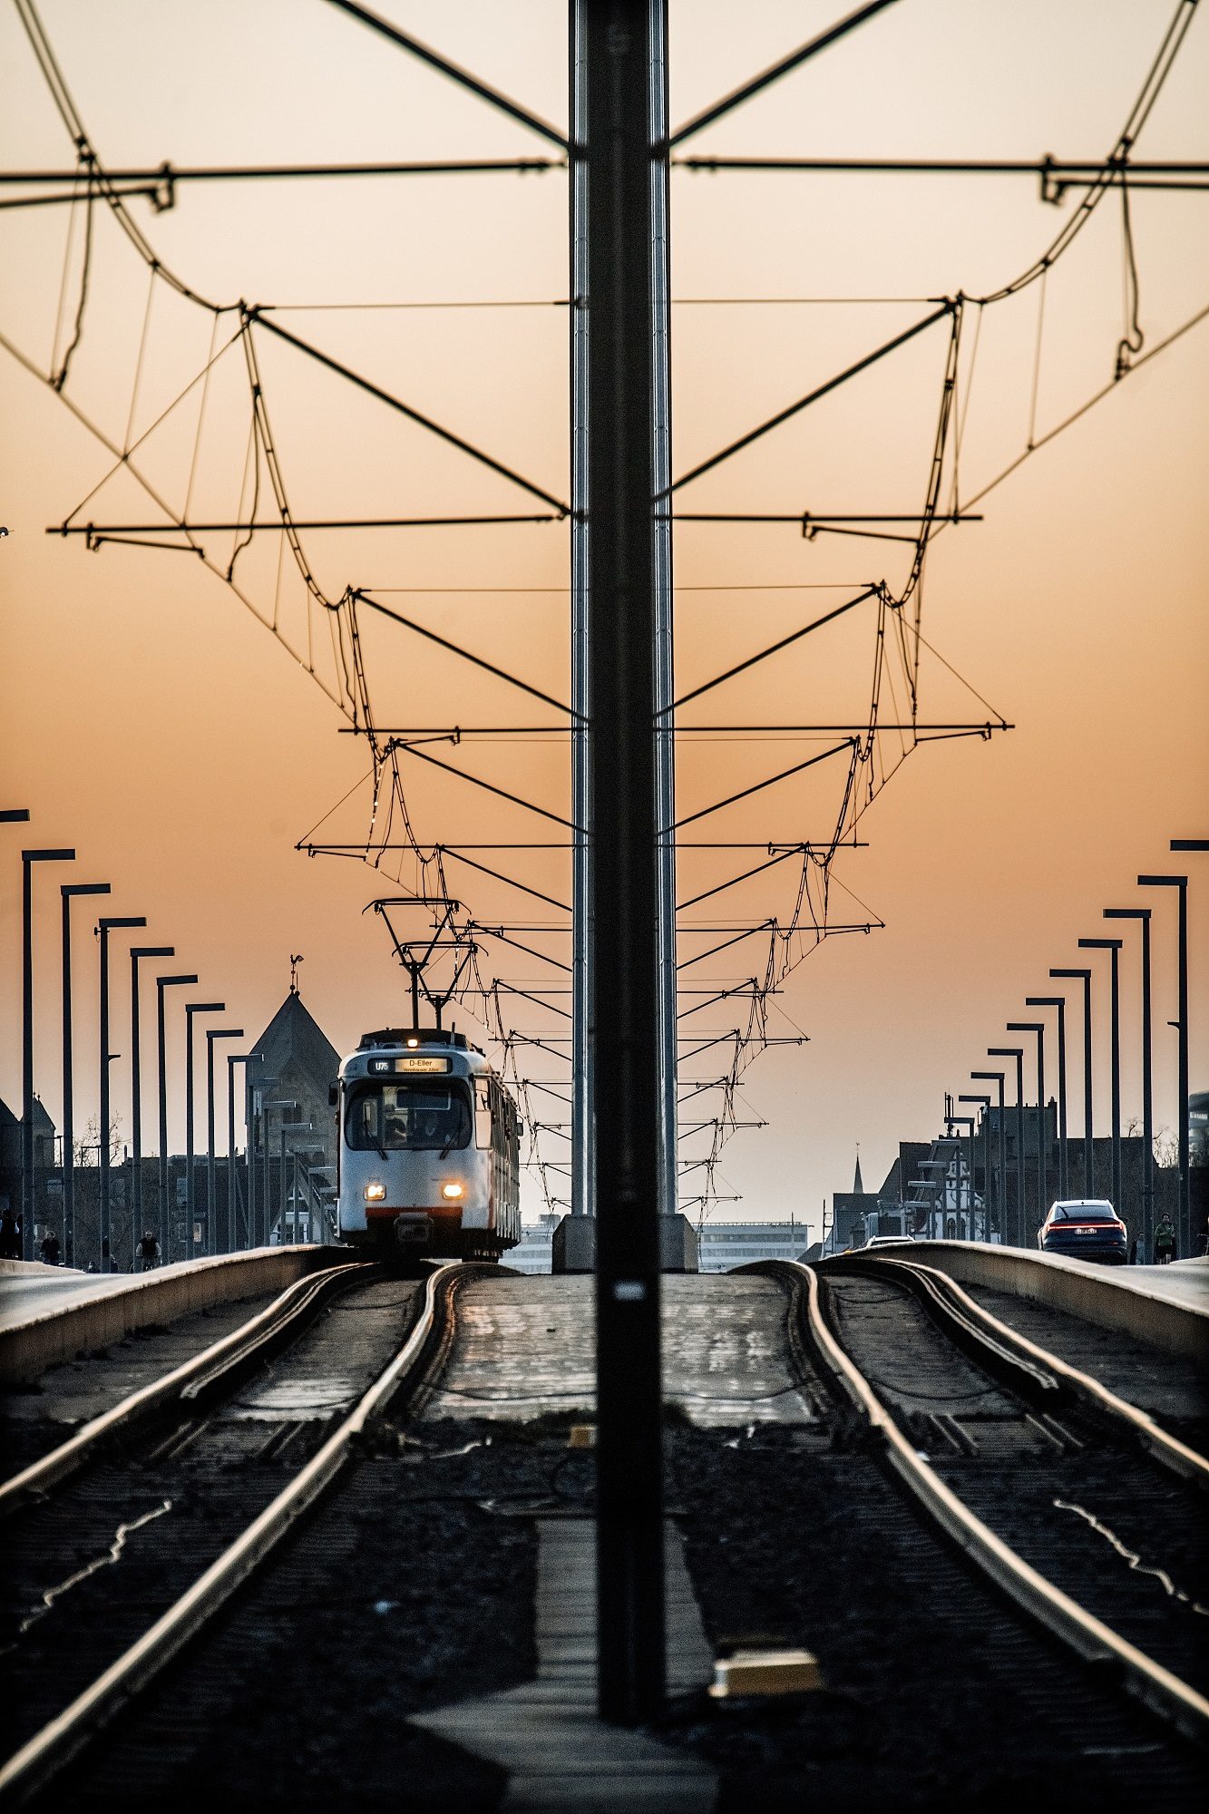
<svg viewBox="0 0 1209 1814">
<path fill-rule="evenodd" d="M 407 1714 L 532 1676 L 532 1507 L 590 1506 L 566 1419 L 385 1431 L 40 1807 L 496 1809 L 505 1774 Z"/>
</svg>

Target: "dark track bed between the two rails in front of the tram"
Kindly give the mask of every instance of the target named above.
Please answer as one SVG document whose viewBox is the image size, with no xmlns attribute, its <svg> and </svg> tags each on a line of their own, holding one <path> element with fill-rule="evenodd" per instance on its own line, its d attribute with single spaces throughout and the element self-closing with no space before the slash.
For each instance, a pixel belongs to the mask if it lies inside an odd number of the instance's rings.
<svg viewBox="0 0 1209 1814">
<path fill-rule="evenodd" d="M 398 1351 L 419 1288 L 350 1286 L 196 1422 L 133 1433 L 5 1526 L 5 1727 L 15 1751 L 133 1643 L 319 1448 Z"/>
</svg>

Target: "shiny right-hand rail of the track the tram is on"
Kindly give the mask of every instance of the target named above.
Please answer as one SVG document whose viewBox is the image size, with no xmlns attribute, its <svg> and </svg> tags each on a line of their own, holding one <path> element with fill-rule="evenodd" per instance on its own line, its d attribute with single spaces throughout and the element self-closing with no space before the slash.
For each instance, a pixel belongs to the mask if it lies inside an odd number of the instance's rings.
<svg viewBox="0 0 1209 1814">
<path fill-rule="evenodd" d="M 427 1371 L 434 1335 L 447 1333 L 448 1299 L 468 1268 L 439 1266 L 428 1275 L 423 1310 L 394 1360 L 378 1375 L 356 1409 L 312 1455 L 290 1484 L 247 1526 L 241 1536 L 109 1665 L 69 1707 L 34 1732 L 0 1769 L 0 1803 L 20 1805 L 62 1770 L 91 1738 L 140 1694 L 178 1651 L 227 1604 L 231 1595 L 267 1560 L 283 1536 L 314 1506 L 356 1455 L 367 1426 L 379 1417 L 408 1375 Z"/>
</svg>

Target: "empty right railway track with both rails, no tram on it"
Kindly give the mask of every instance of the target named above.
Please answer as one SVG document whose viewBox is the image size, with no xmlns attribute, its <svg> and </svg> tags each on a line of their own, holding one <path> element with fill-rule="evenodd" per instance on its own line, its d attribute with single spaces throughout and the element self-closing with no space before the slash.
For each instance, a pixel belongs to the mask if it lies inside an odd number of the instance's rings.
<svg viewBox="0 0 1209 1814">
<path fill-rule="evenodd" d="M 1084 1662 L 1209 1738 L 1205 1457 L 928 1266 L 801 1282 L 802 1331 L 913 1502 Z"/>
</svg>

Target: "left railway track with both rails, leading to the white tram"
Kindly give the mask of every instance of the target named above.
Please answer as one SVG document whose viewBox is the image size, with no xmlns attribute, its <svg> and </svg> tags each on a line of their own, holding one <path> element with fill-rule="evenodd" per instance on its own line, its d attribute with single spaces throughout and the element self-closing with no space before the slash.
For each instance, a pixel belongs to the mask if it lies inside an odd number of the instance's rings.
<svg viewBox="0 0 1209 1814">
<path fill-rule="evenodd" d="M 441 1364 L 476 1270 L 301 1281 L 4 1484 L 20 1694 L 0 1801 L 36 1796 L 298 1527 L 387 1406 Z"/>
</svg>

